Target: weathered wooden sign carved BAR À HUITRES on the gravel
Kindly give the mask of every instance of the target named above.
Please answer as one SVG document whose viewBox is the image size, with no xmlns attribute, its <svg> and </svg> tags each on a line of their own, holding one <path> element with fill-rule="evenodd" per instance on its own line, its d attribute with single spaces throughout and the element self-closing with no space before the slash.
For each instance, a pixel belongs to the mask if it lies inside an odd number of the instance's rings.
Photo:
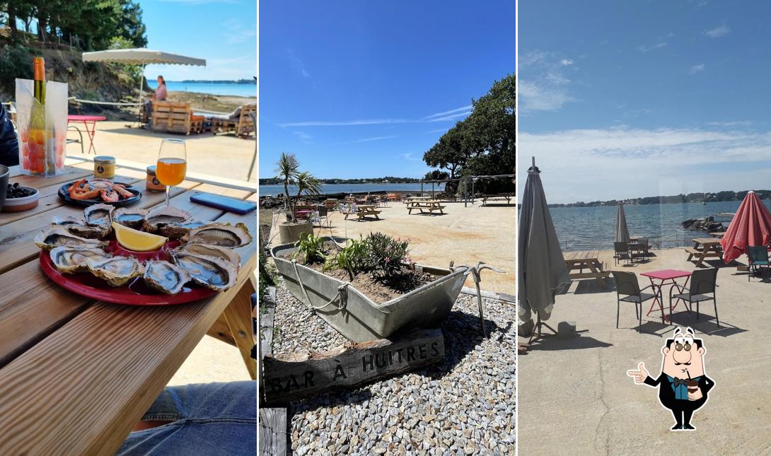
<svg viewBox="0 0 771 456">
<path fill-rule="evenodd" d="M 262 394 L 268 403 L 294 401 L 331 388 L 353 387 L 444 359 L 442 330 L 350 343 L 315 354 L 265 355 Z"/>
</svg>

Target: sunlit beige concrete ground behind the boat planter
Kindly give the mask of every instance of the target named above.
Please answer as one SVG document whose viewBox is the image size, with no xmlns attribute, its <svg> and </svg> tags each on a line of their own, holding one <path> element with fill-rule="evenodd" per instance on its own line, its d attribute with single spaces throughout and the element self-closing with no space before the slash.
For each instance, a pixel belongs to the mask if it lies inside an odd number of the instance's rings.
<svg viewBox="0 0 771 456">
<path fill-rule="evenodd" d="M 474 266 L 483 261 L 506 273 L 483 271 L 482 289 L 514 294 L 515 206 L 480 206 L 477 202 L 464 207 L 463 203 L 446 203 L 444 215 L 421 215 L 416 211 L 409 214 L 404 203 L 389 203 L 389 207 L 377 210 L 382 211 L 381 220 L 368 218 L 361 222 L 355 217 L 344 220 L 341 213 L 332 213 L 332 234 L 358 239 L 359 234 L 366 236 L 379 231 L 410 239 L 412 260 L 429 266 L 448 267 L 450 261 L 456 266 Z M 322 229 L 321 234 L 328 236 L 329 230 Z M 466 286 L 474 287 L 471 277 Z"/>
</svg>

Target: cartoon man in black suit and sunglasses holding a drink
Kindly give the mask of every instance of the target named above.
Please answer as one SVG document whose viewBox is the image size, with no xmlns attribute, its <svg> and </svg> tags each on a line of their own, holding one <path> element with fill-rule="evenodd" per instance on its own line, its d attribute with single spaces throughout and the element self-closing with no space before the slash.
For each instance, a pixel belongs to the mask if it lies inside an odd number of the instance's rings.
<svg viewBox="0 0 771 456">
<path fill-rule="evenodd" d="M 693 412 L 707 401 L 709 390 L 715 382 L 704 374 L 704 347 L 701 339 L 693 337 L 691 328 L 675 329 L 672 339 L 662 347 L 664 360 L 662 373 L 652 378 L 645 370 L 645 363 L 637 371 L 627 371 L 635 378 L 635 384 L 658 387 L 658 401 L 675 415 L 672 431 L 692 431 Z"/>
</svg>

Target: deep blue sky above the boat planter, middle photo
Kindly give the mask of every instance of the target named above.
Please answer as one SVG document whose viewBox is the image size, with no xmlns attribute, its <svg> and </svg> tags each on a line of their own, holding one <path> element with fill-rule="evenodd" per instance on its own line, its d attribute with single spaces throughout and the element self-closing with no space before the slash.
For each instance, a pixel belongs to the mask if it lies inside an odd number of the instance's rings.
<svg viewBox="0 0 771 456">
<path fill-rule="evenodd" d="M 261 2 L 260 177 L 423 177 L 426 152 L 515 68 L 514 2 Z"/>
</svg>

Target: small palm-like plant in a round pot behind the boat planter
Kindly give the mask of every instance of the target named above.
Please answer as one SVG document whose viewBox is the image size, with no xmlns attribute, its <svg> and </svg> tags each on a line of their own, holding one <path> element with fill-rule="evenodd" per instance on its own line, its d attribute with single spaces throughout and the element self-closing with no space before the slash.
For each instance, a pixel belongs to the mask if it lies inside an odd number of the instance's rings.
<svg viewBox="0 0 771 456">
<path fill-rule="evenodd" d="M 297 198 L 303 193 L 318 195 L 321 192 L 322 183 L 308 171 L 300 171 L 300 163 L 294 154 L 281 153 L 276 163 L 276 176 L 284 183 L 284 196 L 286 196 L 287 220 L 278 224 L 278 236 L 281 243 L 293 243 L 300 240 L 301 234 L 312 234 L 313 223 L 311 220 L 298 221 L 295 213 L 295 202 L 289 194 L 289 186 L 297 186 Z"/>
</svg>

